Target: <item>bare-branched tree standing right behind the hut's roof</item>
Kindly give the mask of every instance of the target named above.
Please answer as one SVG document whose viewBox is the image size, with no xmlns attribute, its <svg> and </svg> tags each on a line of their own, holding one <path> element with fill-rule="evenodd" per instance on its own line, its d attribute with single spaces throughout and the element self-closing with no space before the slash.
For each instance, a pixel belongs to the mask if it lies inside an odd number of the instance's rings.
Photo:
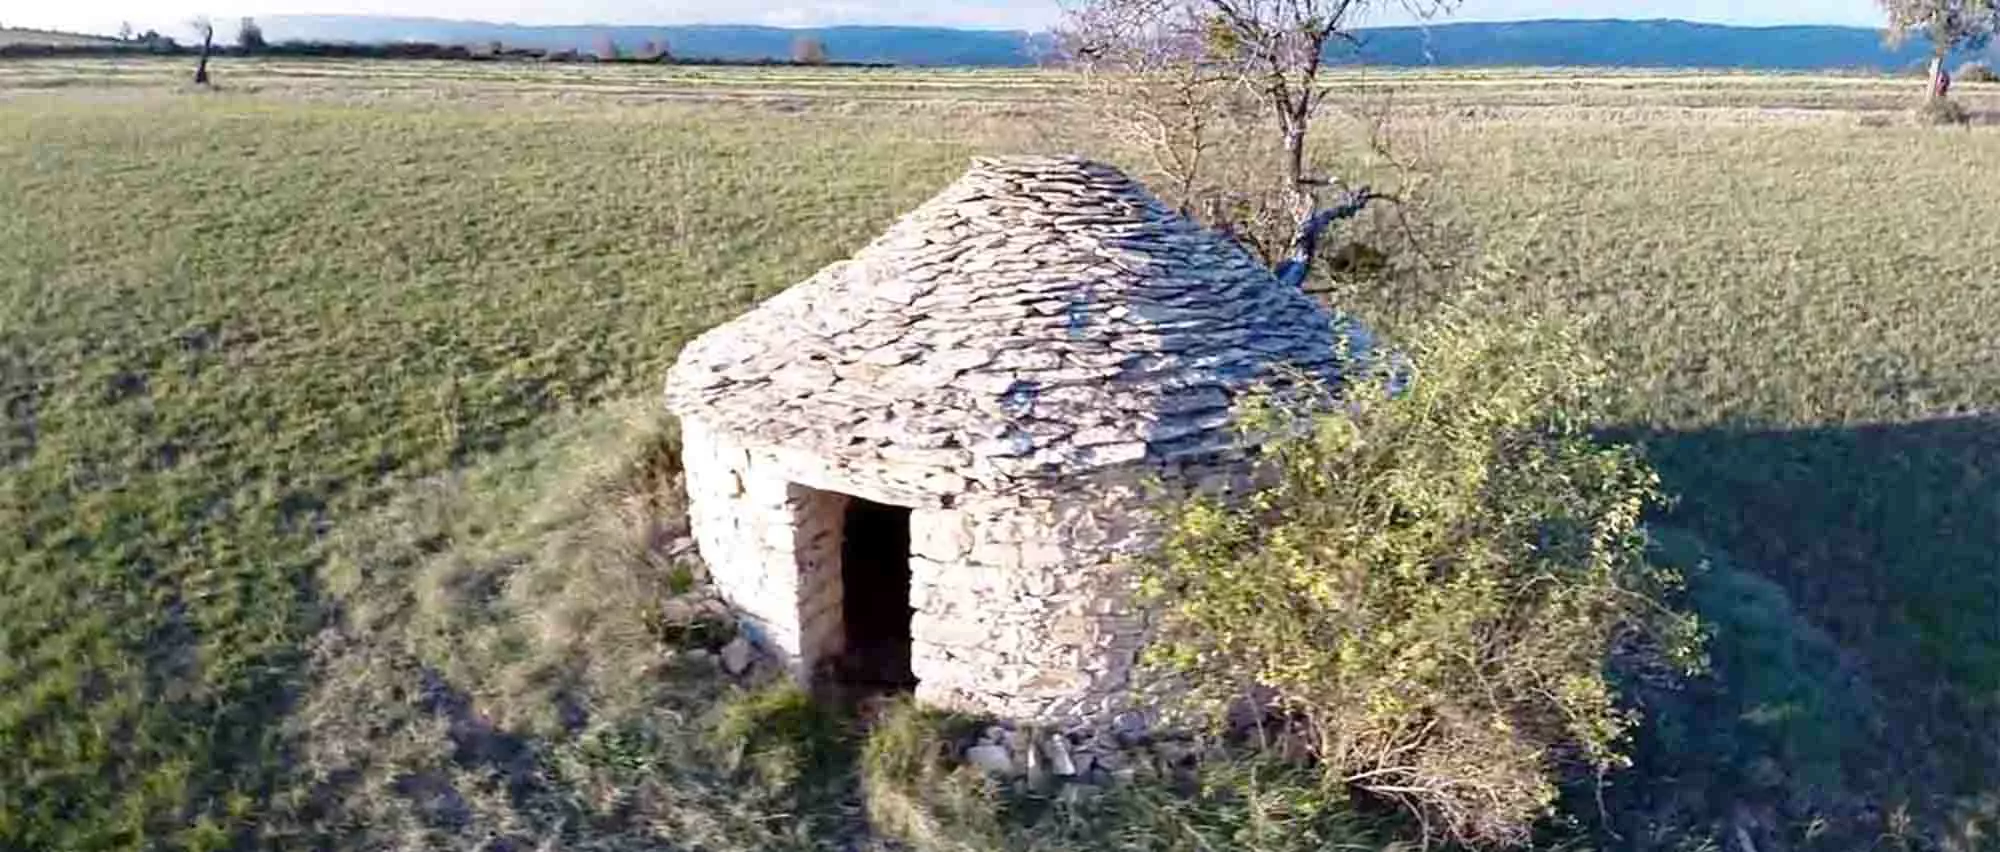
<svg viewBox="0 0 2000 852">
<path fill-rule="evenodd" d="M 1358 46 L 1360 16 L 1392 2 L 1424 18 L 1456 6 L 1456 0 L 1074 0 L 1062 40 L 1064 54 L 1086 76 L 1152 92 L 1106 114 L 1142 122 L 1172 116 L 1174 128 L 1154 132 L 1146 146 L 1182 188 L 1200 184 L 1218 116 L 1262 114 L 1280 146 L 1278 192 L 1292 224 L 1288 260 L 1278 272 L 1304 282 L 1320 232 L 1386 198 L 1368 186 L 1312 174 L 1308 144 L 1312 120 L 1330 96 L 1322 80 L 1328 56 Z M 1338 198 L 1322 208 L 1324 190 L 1336 190 Z M 1274 246 L 1264 244 L 1272 240 L 1238 236 L 1276 260 Z"/>
</svg>

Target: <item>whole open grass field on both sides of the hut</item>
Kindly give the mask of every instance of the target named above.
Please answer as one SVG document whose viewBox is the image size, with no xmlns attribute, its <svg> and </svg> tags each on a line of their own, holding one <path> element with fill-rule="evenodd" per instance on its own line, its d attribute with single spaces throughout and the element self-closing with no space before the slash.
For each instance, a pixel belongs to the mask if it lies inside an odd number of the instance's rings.
<svg viewBox="0 0 2000 852">
<path fill-rule="evenodd" d="M 490 538 L 514 514 L 424 496 L 510 466 L 560 480 L 548 448 L 576 424 L 648 408 L 684 340 L 846 256 L 974 152 L 1116 156 L 1044 72 L 218 62 L 218 92 L 184 72 L 0 64 L 0 848 L 226 848 L 300 824 L 368 846 L 352 832 L 372 816 L 314 812 L 330 732 L 368 728 L 328 716 L 338 696 L 380 710 L 340 674 L 368 666 L 328 650 L 360 606 L 336 582 L 356 536 L 402 530 L 382 538 L 418 566 L 506 552 Z M 1866 718 L 1828 746 L 1828 786 L 1874 816 L 1810 828 L 1764 778 L 1780 804 L 1746 796 L 1760 820 L 1854 848 L 1898 812 L 1936 828 L 1992 808 L 2000 132 L 1880 120 L 1910 80 L 1344 82 L 1404 108 L 1434 250 L 1498 258 L 1516 274 L 1494 310 L 1570 316 L 1614 360 L 1602 426 L 1650 446 L 1682 498 L 1662 522 L 1832 642 Z M 2000 86 L 1966 100 L 2000 108 Z M 1460 278 L 1334 298 L 1394 330 Z M 450 680 L 460 650 L 426 636 L 384 668 Z M 602 782 L 560 778 L 552 800 Z M 418 846 L 576 830 L 412 812 Z"/>
</svg>

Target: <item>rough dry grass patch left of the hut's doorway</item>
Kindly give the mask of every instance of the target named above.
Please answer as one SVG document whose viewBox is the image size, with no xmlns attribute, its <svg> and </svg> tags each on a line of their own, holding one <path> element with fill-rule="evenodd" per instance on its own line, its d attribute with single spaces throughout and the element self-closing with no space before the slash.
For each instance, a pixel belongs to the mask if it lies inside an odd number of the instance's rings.
<svg viewBox="0 0 2000 852">
<path fill-rule="evenodd" d="M 336 534 L 338 614 L 286 724 L 266 842 L 318 848 L 838 848 L 848 730 L 738 686 L 678 538 L 650 406 L 412 490 Z M 844 822 L 846 820 L 846 822 Z"/>
</svg>

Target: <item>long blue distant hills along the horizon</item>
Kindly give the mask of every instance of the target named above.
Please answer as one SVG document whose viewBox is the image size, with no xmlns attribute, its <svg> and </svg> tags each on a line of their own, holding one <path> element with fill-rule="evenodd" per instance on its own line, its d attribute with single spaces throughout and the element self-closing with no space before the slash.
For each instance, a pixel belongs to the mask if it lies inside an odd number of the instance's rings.
<svg viewBox="0 0 2000 852">
<path fill-rule="evenodd" d="M 646 40 L 676 56 L 718 60 L 786 58 L 792 42 L 814 36 L 834 60 L 912 66 L 1024 66 L 1046 42 L 1018 30 L 922 26 L 522 26 L 436 18 L 272 16 L 272 40 L 328 42 L 502 42 L 518 48 L 590 50 L 610 36 L 632 50 Z M 1660 68 L 1874 68 L 1918 64 L 1924 44 L 1882 46 L 1878 30 L 1856 26 L 1720 26 L 1684 20 L 1530 20 L 1508 24 L 1396 26 L 1362 32 L 1362 48 L 1338 62 L 1384 66 L 1660 66 Z"/>
</svg>

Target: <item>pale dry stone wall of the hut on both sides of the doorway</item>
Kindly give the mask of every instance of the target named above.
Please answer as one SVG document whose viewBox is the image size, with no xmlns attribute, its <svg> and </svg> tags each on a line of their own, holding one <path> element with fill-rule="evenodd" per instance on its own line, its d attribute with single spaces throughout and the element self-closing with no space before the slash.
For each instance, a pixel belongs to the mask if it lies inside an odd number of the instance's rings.
<svg viewBox="0 0 2000 852">
<path fill-rule="evenodd" d="M 690 520 L 716 588 L 796 676 L 838 654 L 838 484 L 802 486 L 770 450 L 682 426 Z M 1196 480 L 1228 482 L 1232 466 Z M 934 706 L 1018 720 L 1128 710 L 1146 618 L 1130 558 L 1158 542 L 1146 480 L 1080 478 L 1030 496 L 964 496 L 910 512 L 912 672 Z M 868 496 L 868 494 L 858 494 Z M 868 496 L 874 500 L 874 496 Z"/>
</svg>

